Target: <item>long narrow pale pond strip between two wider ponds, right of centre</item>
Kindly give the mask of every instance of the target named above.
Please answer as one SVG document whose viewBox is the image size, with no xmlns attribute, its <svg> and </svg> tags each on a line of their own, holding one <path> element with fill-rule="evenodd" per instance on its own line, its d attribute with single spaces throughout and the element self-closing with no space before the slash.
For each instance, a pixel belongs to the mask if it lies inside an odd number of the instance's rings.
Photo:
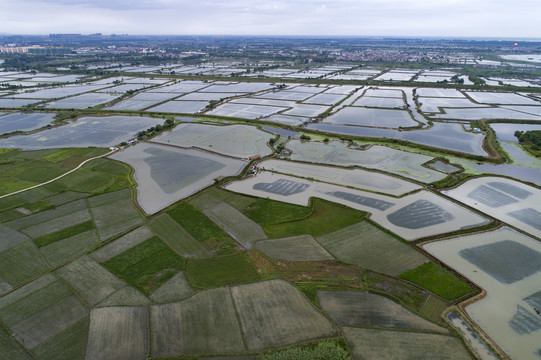
<svg viewBox="0 0 541 360">
<path fill-rule="evenodd" d="M 315 179 L 341 186 L 375 191 L 392 196 L 419 190 L 421 186 L 393 176 L 361 169 L 344 169 L 329 166 L 304 164 L 285 160 L 265 160 L 258 164 L 260 169 Z"/>
</svg>

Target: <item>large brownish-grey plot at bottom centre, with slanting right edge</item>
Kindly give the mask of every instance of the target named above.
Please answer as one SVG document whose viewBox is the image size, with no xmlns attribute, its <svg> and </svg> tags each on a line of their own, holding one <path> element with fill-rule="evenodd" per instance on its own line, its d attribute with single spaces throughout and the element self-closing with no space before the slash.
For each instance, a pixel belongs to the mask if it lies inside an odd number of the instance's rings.
<svg viewBox="0 0 541 360">
<path fill-rule="evenodd" d="M 239 285 L 231 294 L 249 351 L 335 334 L 331 322 L 287 281 Z"/>
</svg>

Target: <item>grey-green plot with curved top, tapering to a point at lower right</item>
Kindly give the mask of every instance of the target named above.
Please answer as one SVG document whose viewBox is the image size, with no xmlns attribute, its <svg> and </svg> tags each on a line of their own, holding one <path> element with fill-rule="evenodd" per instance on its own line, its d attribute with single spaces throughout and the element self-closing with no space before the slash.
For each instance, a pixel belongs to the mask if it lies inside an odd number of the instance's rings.
<svg viewBox="0 0 541 360">
<path fill-rule="evenodd" d="M 318 291 L 323 311 L 340 325 L 448 333 L 400 304 L 363 291 Z"/>
</svg>

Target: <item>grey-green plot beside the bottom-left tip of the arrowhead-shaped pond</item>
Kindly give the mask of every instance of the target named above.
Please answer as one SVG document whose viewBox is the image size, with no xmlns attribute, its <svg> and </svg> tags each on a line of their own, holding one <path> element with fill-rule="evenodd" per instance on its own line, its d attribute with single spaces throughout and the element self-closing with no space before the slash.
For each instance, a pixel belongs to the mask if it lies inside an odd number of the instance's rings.
<svg viewBox="0 0 541 360">
<path fill-rule="evenodd" d="M 122 234 L 143 222 L 141 215 L 133 206 L 131 196 L 91 207 L 90 211 L 101 241 Z"/>
</svg>

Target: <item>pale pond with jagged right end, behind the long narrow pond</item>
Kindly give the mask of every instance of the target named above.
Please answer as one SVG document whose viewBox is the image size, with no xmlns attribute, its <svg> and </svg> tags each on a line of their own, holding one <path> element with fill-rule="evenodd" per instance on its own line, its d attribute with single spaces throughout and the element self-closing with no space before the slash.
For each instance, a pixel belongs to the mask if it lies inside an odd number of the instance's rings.
<svg viewBox="0 0 541 360">
<path fill-rule="evenodd" d="M 421 166 L 433 159 L 431 156 L 373 145 L 366 150 L 348 147 L 346 143 L 331 141 L 301 142 L 291 140 L 287 148 L 292 150 L 291 160 L 335 166 L 359 166 L 378 169 L 422 183 L 443 179 L 446 175 Z"/>
</svg>

